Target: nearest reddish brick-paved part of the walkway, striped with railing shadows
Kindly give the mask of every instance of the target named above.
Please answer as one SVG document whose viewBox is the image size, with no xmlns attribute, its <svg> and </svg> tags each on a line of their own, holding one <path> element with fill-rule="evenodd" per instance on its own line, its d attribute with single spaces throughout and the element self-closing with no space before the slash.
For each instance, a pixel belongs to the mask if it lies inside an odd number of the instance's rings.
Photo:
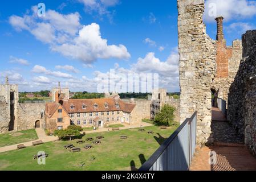
<svg viewBox="0 0 256 182">
<path fill-rule="evenodd" d="M 217 154 L 215 165 L 209 164 L 210 151 Z M 190 171 L 256 171 L 256 159 L 246 147 L 202 147 L 196 152 Z"/>
</svg>

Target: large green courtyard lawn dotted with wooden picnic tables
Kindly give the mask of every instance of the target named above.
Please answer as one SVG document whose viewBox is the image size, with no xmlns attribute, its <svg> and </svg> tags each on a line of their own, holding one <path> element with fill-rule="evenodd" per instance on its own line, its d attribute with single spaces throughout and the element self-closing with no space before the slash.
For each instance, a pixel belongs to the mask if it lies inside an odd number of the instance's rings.
<svg viewBox="0 0 256 182">
<path fill-rule="evenodd" d="M 176 128 L 161 130 L 157 126 L 145 127 L 146 131 L 139 132 L 138 129 L 111 131 L 104 133 L 88 134 L 83 137 L 96 138 L 103 135 L 101 144 L 91 150 L 85 150 L 84 144 L 76 144 L 76 140 L 57 141 L 44 143 L 40 146 L 27 147 L 0 153 L 0 170 L 131 170 L 139 168 L 160 144 L 168 138 Z M 147 134 L 152 130 L 155 134 Z M 128 139 L 120 139 L 126 135 Z M 64 149 L 66 144 L 74 144 L 82 148 L 81 152 L 70 153 Z M 85 144 L 91 144 L 86 142 Z M 45 151 L 49 156 L 46 165 L 38 165 L 37 160 L 32 159 L 38 151 Z M 95 160 L 93 160 L 95 158 Z M 81 163 L 85 167 L 81 167 Z"/>
</svg>

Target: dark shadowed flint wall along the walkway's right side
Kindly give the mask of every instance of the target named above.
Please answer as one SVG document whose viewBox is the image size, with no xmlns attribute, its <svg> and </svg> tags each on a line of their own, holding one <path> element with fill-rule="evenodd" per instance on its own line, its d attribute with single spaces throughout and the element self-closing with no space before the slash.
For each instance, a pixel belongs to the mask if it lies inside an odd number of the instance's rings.
<svg viewBox="0 0 256 182">
<path fill-rule="evenodd" d="M 243 59 L 230 86 L 227 119 L 256 155 L 256 30 L 242 35 Z"/>
</svg>

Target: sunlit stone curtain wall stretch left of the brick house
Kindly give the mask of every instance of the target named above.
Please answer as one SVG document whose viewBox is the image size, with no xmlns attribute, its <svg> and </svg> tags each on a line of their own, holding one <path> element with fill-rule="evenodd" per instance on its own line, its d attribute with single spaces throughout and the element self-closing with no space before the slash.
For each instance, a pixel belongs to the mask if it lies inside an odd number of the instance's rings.
<svg viewBox="0 0 256 182">
<path fill-rule="evenodd" d="M 45 108 L 45 103 L 19 104 L 16 118 L 17 131 L 34 129 L 36 121 L 40 121 L 41 127 L 44 128 Z"/>
</svg>

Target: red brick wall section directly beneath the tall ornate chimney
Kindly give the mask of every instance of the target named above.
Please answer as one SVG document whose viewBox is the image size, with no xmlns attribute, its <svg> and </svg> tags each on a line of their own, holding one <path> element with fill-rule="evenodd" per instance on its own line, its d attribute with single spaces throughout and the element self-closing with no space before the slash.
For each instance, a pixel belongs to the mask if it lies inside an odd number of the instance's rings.
<svg viewBox="0 0 256 182">
<path fill-rule="evenodd" d="M 229 76 L 229 58 L 232 57 L 232 49 L 226 47 L 226 42 L 217 42 L 217 76 L 227 78 Z"/>
</svg>

